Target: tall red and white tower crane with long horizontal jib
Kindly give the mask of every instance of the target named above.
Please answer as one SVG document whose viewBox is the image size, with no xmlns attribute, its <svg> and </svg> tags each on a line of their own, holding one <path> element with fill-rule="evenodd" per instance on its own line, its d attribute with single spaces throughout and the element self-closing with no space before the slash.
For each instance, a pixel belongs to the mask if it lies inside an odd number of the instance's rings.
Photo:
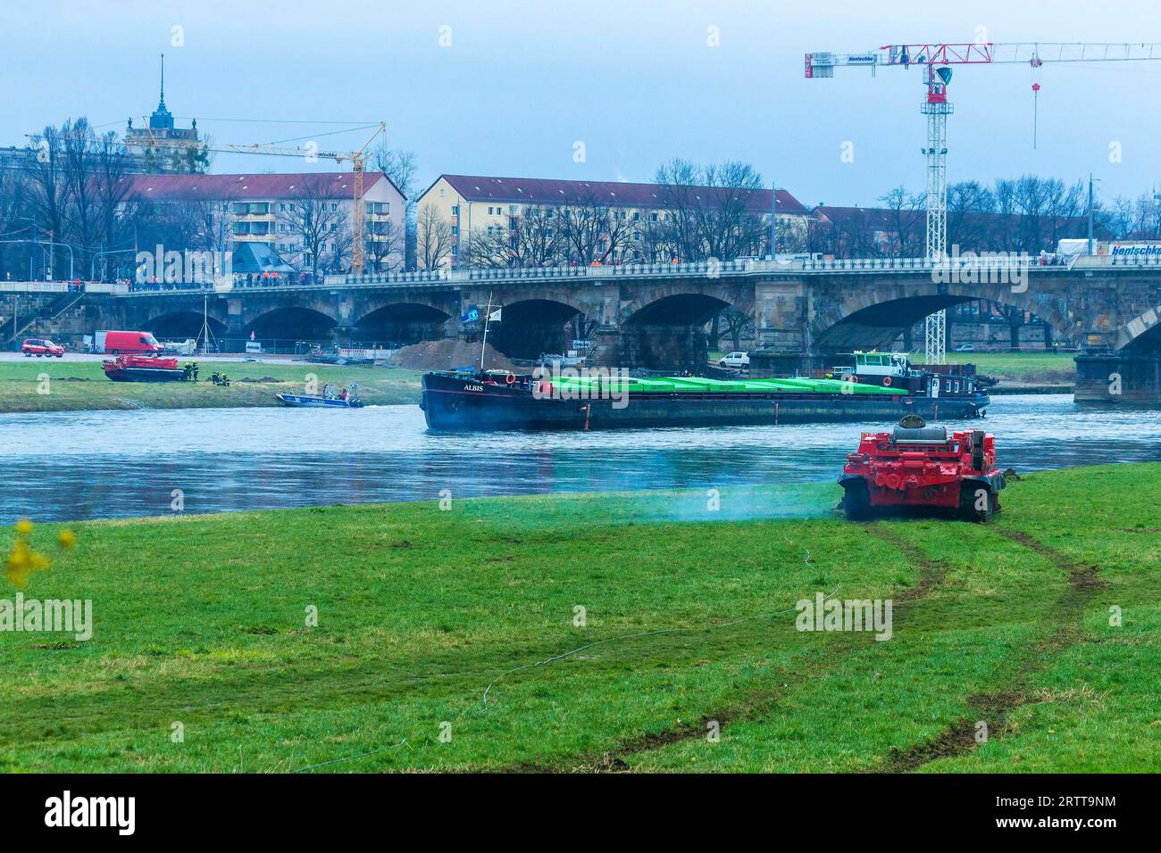
<svg viewBox="0 0 1161 853">
<path fill-rule="evenodd" d="M 807 53 L 808 78 L 831 78 L 836 67 L 908 68 L 918 65 L 924 71 L 928 96 L 920 111 L 928 117 L 928 143 L 923 154 L 928 164 L 926 189 L 926 258 L 939 262 L 947 256 L 947 100 L 952 65 L 1023 64 L 1033 72 L 1045 63 L 1108 63 L 1161 59 L 1161 43 L 1112 44 L 1084 42 L 1018 42 L 995 44 L 889 44 L 865 53 Z M 1032 97 L 1038 97 L 1040 84 L 1032 84 Z M 946 357 L 946 311 L 928 315 L 924 334 L 924 359 L 938 364 Z"/>
</svg>

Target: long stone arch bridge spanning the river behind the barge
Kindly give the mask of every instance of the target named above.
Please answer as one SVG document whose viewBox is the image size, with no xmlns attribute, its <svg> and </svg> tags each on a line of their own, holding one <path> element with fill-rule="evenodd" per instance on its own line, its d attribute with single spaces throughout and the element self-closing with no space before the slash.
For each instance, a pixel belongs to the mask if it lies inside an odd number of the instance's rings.
<svg viewBox="0 0 1161 853">
<path fill-rule="evenodd" d="M 1161 265 L 1032 266 L 933 270 L 922 260 L 641 265 L 332 276 L 316 287 L 163 290 L 99 297 L 96 326 L 166 337 L 413 342 L 461 333 L 489 299 L 503 306 L 489 340 L 512 357 L 558 352 L 577 333 L 601 363 L 654 368 L 705 363 L 705 324 L 726 308 L 753 319 L 760 345 L 823 356 L 889 346 L 940 309 L 993 299 L 1036 315 L 1065 345 L 1122 359 L 1161 353 Z M 1102 263 L 1097 265 L 1096 261 Z"/>
</svg>

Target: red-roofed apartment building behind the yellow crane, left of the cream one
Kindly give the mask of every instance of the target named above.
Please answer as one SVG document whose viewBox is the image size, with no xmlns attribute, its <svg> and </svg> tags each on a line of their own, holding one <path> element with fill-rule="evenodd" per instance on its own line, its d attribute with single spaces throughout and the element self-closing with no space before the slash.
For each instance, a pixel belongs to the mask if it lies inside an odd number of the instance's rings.
<svg viewBox="0 0 1161 853">
<path fill-rule="evenodd" d="M 365 268 L 387 272 L 404 259 L 406 198 L 382 172 L 367 172 L 363 194 L 354 198 L 354 174 L 279 173 L 132 175 L 125 196 L 163 212 L 163 205 L 197 211 L 211 233 L 201 241 L 232 251 L 262 243 L 301 270 L 345 272 L 351 265 L 354 205 L 365 214 Z M 173 247 L 180 248 L 180 247 Z"/>
</svg>

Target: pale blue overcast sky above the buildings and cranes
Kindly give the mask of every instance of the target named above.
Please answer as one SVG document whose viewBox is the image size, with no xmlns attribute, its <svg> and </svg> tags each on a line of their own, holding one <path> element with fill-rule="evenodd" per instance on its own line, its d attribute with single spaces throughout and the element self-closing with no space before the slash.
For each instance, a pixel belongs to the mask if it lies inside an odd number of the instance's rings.
<svg viewBox="0 0 1161 853">
<path fill-rule="evenodd" d="M 1161 41 L 1161 5 L 1074 0 L 392 0 L 6 2 L 0 145 L 65 118 L 121 130 L 166 103 L 218 143 L 353 150 L 387 123 L 418 182 L 440 173 L 651 180 L 673 157 L 743 160 L 806 204 L 924 187 L 918 68 L 803 53 L 911 42 Z M 1161 62 L 962 66 L 949 87 L 949 180 L 1036 173 L 1161 189 Z M 283 142 L 290 140 L 290 142 Z M 844 153 L 846 154 L 844 157 Z M 301 171 L 218 154 L 215 172 Z M 337 168 L 322 164 L 317 168 Z"/>
</svg>

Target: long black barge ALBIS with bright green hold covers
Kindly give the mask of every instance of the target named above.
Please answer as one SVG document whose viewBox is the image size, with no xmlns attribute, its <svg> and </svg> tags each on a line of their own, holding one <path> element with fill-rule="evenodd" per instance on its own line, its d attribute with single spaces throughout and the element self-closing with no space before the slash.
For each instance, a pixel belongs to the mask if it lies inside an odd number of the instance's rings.
<svg viewBox="0 0 1161 853">
<path fill-rule="evenodd" d="M 889 353 L 854 356 L 851 369 L 823 378 L 435 371 L 423 377 L 420 405 L 430 429 L 483 431 L 870 422 L 907 414 L 962 420 L 982 417 L 990 402 L 966 374 L 915 370 Z"/>
</svg>

